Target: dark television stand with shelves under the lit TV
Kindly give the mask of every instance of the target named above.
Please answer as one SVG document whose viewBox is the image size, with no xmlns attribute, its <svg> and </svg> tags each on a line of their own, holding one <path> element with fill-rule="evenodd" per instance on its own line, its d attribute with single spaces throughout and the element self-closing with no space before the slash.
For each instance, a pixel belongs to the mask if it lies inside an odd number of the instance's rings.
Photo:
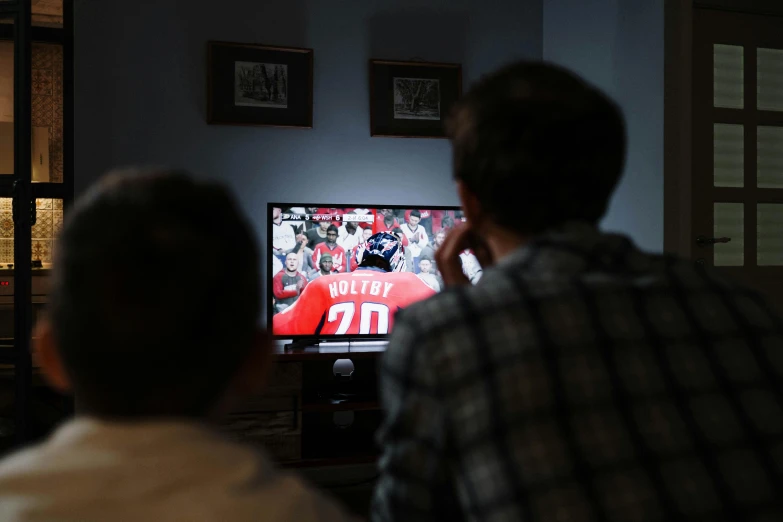
<svg viewBox="0 0 783 522">
<path fill-rule="evenodd" d="M 286 341 L 294 348 L 284 349 Z M 225 432 L 262 445 L 284 466 L 374 462 L 374 434 L 383 417 L 378 400 L 383 340 L 373 339 L 375 346 L 367 339 L 352 346 L 345 338 L 286 341 L 275 345 L 265 389 L 235 405 L 223 419 Z M 337 365 L 340 359 L 350 363 Z"/>
</svg>

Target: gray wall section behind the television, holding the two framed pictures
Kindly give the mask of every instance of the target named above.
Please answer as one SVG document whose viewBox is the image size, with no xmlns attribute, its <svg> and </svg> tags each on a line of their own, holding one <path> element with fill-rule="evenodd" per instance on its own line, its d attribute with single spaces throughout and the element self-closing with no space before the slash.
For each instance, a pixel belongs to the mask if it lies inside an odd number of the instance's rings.
<svg viewBox="0 0 783 522">
<path fill-rule="evenodd" d="M 76 192 L 106 169 L 221 179 L 259 233 L 269 200 L 457 204 L 448 142 L 370 138 L 368 59 L 541 58 L 541 0 L 77 0 Z M 310 47 L 314 128 L 210 126 L 206 42 Z"/>
</svg>

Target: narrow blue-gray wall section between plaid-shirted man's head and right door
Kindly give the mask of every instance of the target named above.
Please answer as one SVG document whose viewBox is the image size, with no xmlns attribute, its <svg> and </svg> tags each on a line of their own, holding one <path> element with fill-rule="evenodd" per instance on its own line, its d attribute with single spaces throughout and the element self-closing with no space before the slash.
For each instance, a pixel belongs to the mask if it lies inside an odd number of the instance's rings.
<svg viewBox="0 0 783 522">
<path fill-rule="evenodd" d="M 544 0 L 544 59 L 614 97 L 628 121 L 624 178 L 603 226 L 663 250 L 663 0 Z"/>
</svg>

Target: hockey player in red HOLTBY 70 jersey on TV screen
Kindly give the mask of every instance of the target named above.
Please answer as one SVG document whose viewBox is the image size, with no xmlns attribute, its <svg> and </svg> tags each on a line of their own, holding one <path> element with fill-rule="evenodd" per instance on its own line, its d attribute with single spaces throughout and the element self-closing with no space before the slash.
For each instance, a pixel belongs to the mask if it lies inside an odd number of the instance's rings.
<svg viewBox="0 0 783 522">
<path fill-rule="evenodd" d="M 384 335 L 394 314 L 435 294 L 405 271 L 404 247 L 392 234 L 375 234 L 356 250 L 358 269 L 323 276 L 272 318 L 275 335 Z"/>
</svg>

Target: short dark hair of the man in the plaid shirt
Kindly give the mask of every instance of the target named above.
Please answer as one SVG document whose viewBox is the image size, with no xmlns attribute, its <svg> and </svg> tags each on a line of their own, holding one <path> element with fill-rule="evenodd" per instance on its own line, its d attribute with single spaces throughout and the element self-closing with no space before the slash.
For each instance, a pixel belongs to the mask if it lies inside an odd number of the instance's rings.
<svg viewBox="0 0 783 522">
<path fill-rule="evenodd" d="M 455 178 L 496 224 L 521 233 L 597 223 L 625 163 L 619 107 L 545 63 L 514 63 L 480 80 L 447 130 Z"/>
</svg>

